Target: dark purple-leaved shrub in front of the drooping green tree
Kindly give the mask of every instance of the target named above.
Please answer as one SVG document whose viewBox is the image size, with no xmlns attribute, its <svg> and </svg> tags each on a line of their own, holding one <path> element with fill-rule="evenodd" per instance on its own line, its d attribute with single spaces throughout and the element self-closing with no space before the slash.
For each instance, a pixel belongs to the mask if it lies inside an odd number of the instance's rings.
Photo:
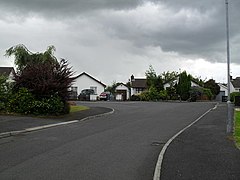
<svg viewBox="0 0 240 180">
<path fill-rule="evenodd" d="M 73 81 L 72 75 L 73 72 L 64 59 L 59 64 L 28 64 L 22 72 L 15 75 L 14 88 L 27 88 L 37 99 L 58 95 L 65 101 Z"/>
</svg>

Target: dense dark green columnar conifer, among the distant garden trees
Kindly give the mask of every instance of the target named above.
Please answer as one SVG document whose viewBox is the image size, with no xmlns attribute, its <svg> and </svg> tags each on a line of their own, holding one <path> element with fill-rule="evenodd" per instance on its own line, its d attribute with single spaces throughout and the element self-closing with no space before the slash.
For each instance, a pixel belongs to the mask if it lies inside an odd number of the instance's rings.
<svg viewBox="0 0 240 180">
<path fill-rule="evenodd" d="M 191 76 L 187 74 L 186 71 L 183 71 L 179 75 L 179 80 L 177 84 L 177 94 L 180 95 L 182 100 L 187 100 L 190 97 L 190 88 L 191 88 Z"/>
</svg>

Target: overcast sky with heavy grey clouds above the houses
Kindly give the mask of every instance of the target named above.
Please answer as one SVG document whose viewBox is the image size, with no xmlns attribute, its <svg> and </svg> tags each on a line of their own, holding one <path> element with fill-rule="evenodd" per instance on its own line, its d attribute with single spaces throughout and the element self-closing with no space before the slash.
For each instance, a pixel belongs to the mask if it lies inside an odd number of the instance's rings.
<svg viewBox="0 0 240 180">
<path fill-rule="evenodd" d="M 106 85 L 186 70 L 227 82 L 225 0 L 0 0 L 0 66 L 5 51 L 54 45 L 75 75 Z M 230 71 L 240 76 L 240 1 L 229 0 Z"/>
</svg>

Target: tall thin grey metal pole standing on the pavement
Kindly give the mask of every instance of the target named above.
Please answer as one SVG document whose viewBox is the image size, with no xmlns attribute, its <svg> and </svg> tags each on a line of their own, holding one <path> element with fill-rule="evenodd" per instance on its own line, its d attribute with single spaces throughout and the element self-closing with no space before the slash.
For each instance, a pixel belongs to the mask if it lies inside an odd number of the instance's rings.
<svg viewBox="0 0 240 180">
<path fill-rule="evenodd" d="M 227 35 L 227 89 L 228 89 L 228 99 L 227 99 L 227 134 L 232 133 L 232 109 L 230 101 L 230 47 L 229 47 L 229 18 L 228 18 L 228 0 L 225 0 L 226 4 L 226 35 Z"/>
</svg>

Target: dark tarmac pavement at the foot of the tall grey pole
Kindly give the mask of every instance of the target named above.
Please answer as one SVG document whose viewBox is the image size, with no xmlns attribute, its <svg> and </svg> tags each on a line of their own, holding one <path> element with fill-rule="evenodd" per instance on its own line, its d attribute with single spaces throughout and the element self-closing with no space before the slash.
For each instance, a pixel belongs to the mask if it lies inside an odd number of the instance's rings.
<svg viewBox="0 0 240 180">
<path fill-rule="evenodd" d="M 226 120 L 226 104 L 219 104 L 180 134 L 165 152 L 161 180 L 239 180 L 240 150 Z"/>
</svg>

